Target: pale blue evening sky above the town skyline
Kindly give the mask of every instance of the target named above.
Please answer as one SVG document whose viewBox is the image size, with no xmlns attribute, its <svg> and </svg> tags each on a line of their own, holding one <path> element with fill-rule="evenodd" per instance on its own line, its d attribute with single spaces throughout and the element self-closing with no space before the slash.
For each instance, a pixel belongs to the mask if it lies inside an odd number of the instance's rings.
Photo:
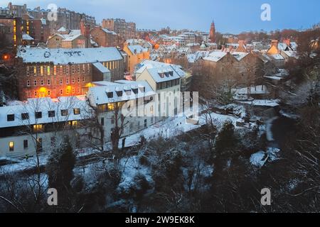
<svg viewBox="0 0 320 227">
<path fill-rule="evenodd" d="M 0 0 L 0 6 L 9 1 Z M 125 18 L 137 28 L 159 29 L 166 26 L 208 31 L 214 19 L 222 33 L 271 31 L 283 28 L 310 28 L 320 22 L 319 0 L 12 0 L 13 4 L 54 3 L 74 11 L 102 18 Z M 262 4 L 270 4 L 272 21 L 262 21 Z"/>
</svg>

